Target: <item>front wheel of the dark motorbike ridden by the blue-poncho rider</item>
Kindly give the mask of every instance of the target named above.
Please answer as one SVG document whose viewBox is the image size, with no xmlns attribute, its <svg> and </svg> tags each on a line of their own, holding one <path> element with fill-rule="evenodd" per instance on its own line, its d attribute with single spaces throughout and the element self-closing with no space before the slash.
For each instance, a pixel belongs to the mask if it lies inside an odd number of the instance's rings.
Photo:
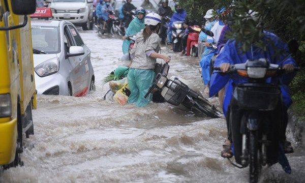
<svg viewBox="0 0 305 183">
<path fill-rule="evenodd" d="M 256 131 L 250 132 L 249 150 L 250 150 L 249 153 L 250 182 L 256 183 L 258 181 L 258 174 L 259 174 L 258 137 Z"/>
</svg>

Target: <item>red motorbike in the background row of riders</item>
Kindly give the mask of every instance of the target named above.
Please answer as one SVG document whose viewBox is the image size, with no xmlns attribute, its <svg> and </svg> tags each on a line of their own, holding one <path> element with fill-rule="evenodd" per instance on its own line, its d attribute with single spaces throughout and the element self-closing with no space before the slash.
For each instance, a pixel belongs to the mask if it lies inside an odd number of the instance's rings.
<svg viewBox="0 0 305 183">
<path fill-rule="evenodd" d="M 199 25 L 189 26 L 189 36 L 187 41 L 187 56 L 198 56 L 198 38 L 201 32 Z"/>
</svg>

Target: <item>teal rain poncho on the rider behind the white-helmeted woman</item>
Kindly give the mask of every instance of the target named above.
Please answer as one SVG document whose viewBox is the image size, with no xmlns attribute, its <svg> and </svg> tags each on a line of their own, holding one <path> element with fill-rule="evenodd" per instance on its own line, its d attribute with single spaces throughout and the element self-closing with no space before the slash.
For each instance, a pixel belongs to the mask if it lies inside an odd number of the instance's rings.
<svg viewBox="0 0 305 183">
<path fill-rule="evenodd" d="M 130 24 L 129 24 L 127 30 L 126 30 L 125 36 L 135 35 L 138 32 L 140 32 L 141 29 L 145 28 L 144 19 L 145 19 L 145 17 L 142 18 L 142 20 L 140 20 L 138 18 L 133 19 L 130 22 Z M 132 41 L 130 41 L 130 40 L 124 40 L 123 41 L 123 45 L 122 45 L 123 54 L 127 54 L 128 53 L 128 48 L 129 48 L 129 45 L 131 43 L 132 43 Z"/>
</svg>

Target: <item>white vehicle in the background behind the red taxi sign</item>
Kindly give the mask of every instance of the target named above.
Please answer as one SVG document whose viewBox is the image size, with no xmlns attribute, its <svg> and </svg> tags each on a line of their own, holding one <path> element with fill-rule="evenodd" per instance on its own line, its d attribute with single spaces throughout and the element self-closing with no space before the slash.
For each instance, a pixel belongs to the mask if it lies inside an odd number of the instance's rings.
<svg viewBox="0 0 305 183">
<path fill-rule="evenodd" d="M 93 0 L 47 0 L 54 19 L 68 20 L 83 30 L 93 28 Z"/>
</svg>

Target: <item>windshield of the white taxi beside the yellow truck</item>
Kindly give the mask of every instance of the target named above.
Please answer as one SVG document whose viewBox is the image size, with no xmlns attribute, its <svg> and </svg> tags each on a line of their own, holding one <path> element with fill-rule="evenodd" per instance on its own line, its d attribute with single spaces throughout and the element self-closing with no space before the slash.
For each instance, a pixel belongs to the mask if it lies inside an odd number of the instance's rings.
<svg viewBox="0 0 305 183">
<path fill-rule="evenodd" d="M 43 51 L 49 54 L 59 53 L 59 40 L 60 39 L 58 27 L 32 25 L 33 49 Z"/>
</svg>

